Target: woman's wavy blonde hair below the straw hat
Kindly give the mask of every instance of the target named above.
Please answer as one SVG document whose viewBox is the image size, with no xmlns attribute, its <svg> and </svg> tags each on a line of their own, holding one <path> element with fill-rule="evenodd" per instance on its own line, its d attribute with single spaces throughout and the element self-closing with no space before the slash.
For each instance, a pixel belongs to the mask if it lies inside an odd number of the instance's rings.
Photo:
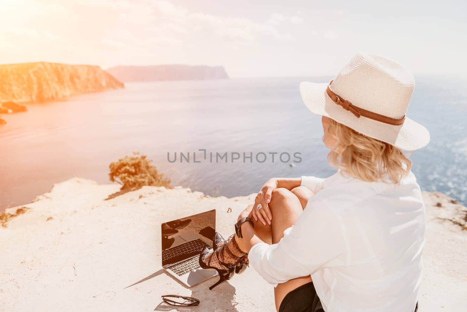
<svg viewBox="0 0 467 312">
<path fill-rule="evenodd" d="M 327 160 L 346 175 L 374 182 L 387 174 L 397 184 L 410 171 L 412 162 L 389 143 L 362 135 L 332 119 L 327 132 L 336 140 Z"/>
</svg>

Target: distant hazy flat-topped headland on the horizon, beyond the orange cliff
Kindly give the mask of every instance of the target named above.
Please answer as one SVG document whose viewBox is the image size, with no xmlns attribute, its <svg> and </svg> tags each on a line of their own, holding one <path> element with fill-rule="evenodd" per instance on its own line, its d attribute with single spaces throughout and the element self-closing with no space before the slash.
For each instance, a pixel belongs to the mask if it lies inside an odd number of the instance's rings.
<svg viewBox="0 0 467 312">
<path fill-rule="evenodd" d="M 115 66 L 107 69 L 107 71 L 123 82 L 158 80 L 208 80 L 229 78 L 224 67 L 222 66 Z"/>
</svg>

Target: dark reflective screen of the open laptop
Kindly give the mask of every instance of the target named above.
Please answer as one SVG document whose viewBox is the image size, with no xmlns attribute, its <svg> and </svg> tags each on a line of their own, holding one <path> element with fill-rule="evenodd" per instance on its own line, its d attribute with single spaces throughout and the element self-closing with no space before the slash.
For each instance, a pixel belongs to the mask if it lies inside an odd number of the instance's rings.
<svg viewBox="0 0 467 312">
<path fill-rule="evenodd" d="M 163 223 L 162 265 L 199 255 L 204 247 L 212 248 L 215 231 L 216 210 Z"/>
</svg>

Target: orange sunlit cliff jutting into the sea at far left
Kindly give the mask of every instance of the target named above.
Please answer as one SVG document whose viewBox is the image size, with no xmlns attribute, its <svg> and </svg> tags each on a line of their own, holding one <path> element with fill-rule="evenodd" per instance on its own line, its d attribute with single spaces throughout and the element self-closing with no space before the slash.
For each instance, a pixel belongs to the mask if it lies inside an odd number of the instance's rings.
<svg viewBox="0 0 467 312">
<path fill-rule="evenodd" d="M 123 87 L 99 66 L 48 62 L 0 65 L 0 102 L 47 101 Z"/>
</svg>

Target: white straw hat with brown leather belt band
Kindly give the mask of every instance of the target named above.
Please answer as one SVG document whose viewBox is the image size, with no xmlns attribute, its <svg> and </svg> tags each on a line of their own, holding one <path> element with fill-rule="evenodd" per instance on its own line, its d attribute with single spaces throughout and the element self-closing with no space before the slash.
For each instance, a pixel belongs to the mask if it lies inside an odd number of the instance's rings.
<svg viewBox="0 0 467 312">
<path fill-rule="evenodd" d="M 428 130 L 405 117 L 415 79 L 385 57 L 358 53 L 330 83 L 302 82 L 300 93 L 311 112 L 329 117 L 400 149 L 430 141 Z"/>
</svg>

